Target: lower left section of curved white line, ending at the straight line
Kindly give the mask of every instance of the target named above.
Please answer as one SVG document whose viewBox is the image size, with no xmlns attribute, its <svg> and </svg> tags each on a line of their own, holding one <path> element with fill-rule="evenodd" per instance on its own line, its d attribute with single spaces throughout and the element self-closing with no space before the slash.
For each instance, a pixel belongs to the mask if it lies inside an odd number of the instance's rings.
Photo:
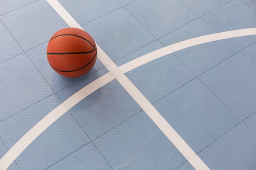
<svg viewBox="0 0 256 170">
<path fill-rule="evenodd" d="M 11 147 L 10 150 L 0 159 L 0 170 L 6 170 L 11 163 L 31 144 L 45 129 L 66 113 L 70 108 L 80 102 L 82 99 L 111 82 L 115 77 L 110 73 L 99 77 L 87 86 L 83 87 L 78 92 L 74 93 L 71 97 L 57 106 L 42 120 L 40 120 L 33 128 L 31 128 L 24 136 Z"/>
</svg>

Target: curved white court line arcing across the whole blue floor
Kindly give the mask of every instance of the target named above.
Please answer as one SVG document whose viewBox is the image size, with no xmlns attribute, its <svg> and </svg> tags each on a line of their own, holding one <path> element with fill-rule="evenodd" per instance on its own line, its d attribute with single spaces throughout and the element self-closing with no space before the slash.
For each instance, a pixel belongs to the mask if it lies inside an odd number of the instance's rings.
<svg viewBox="0 0 256 170">
<path fill-rule="evenodd" d="M 185 40 L 182 42 L 178 42 L 146 55 L 143 55 L 135 60 L 132 60 L 124 65 L 119 66 L 118 68 L 123 72 L 127 73 L 134 68 L 137 68 L 143 64 L 146 64 L 150 61 L 153 61 L 159 57 L 163 57 L 164 55 L 173 53 L 175 51 L 179 51 L 182 49 L 186 49 L 191 46 L 195 46 L 198 44 L 203 44 L 207 42 L 213 42 L 216 40 L 224 40 L 227 38 L 236 38 L 247 35 L 256 35 L 256 28 L 251 29 L 239 29 L 234 31 L 225 31 L 222 33 L 214 33 L 210 35 L 204 35 L 197 38 L 192 38 L 189 40 Z M 101 55 L 100 53 L 98 55 Z M 13 147 L 0 159 L 0 170 L 6 170 L 11 163 L 20 155 L 20 153 L 29 146 L 29 144 L 36 139 L 45 129 L 47 129 L 51 124 L 54 123 L 59 117 L 61 117 L 64 113 L 66 113 L 70 108 L 80 102 L 82 99 L 101 88 L 108 82 L 115 79 L 115 77 L 109 72 L 100 78 L 96 79 L 94 82 L 88 84 L 80 91 L 76 92 L 70 98 L 65 100 L 62 104 L 56 107 L 52 112 L 46 115 L 41 121 L 38 122 L 31 130 L 29 130 Z M 38 131 L 38 129 L 41 129 Z"/>
</svg>

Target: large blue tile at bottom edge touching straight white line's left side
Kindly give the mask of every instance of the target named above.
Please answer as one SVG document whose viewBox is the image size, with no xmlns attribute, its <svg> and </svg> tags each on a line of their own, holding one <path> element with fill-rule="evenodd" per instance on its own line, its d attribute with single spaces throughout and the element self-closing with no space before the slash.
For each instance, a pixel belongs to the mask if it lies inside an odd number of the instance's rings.
<svg viewBox="0 0 256 170">
<path fill-rule="evenodd" d="M 93 142 L 114 170 L 175 170 L 186 161 L 144 111 Z"/>
</svg>

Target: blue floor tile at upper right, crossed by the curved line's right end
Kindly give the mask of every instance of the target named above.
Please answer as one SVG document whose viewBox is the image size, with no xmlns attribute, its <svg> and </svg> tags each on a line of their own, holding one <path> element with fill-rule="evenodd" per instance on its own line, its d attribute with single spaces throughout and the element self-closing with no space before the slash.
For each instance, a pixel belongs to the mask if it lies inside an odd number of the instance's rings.
<svg viewBox="0 0 256 170">
<path fill-rule="evenodd" d="M 256 12 L 247 7 L 240 0 L 233 0 L 224 6 L 204 15 L 204 20 L 217 32 L 230 31 L 236 29 L 247 29 L 256 27 Z M 255 36 L 228 39 L 238 50 L 256 42 Z M 242 40 L 242 41 L 241 41 Z"/>
</svg>

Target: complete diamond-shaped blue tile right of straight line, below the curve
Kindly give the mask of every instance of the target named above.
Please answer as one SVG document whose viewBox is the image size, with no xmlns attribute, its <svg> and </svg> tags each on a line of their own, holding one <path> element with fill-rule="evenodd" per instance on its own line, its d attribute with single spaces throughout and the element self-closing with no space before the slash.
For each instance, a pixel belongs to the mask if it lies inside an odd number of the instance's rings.
<svg viewBox="0 0 256 170">
<path fill-rule="evenodd" d="M 195 153 L 241 122 L 198 79 L 153 106 Z"/>
</svg>

